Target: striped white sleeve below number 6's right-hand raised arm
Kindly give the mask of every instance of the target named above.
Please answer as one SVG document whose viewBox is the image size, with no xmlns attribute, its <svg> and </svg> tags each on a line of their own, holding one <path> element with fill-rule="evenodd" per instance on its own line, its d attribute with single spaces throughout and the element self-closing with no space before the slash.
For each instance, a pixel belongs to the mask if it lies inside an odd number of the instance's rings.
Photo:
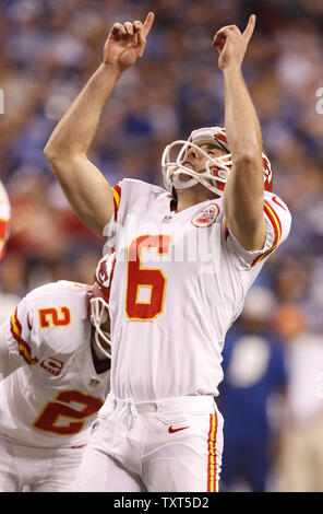
<svg viewBox="0 0 323 514">
<path fill-rule="evenodd" d="M 264 213 L 266 222 L 266 237 L 262 249 L 249 252 L 244 249 L 228 230 L 224 220 L 224 235 L 227 248 L 234 253 L 242 268 L 254 268 L 264 261 L 278 248 L 287 238 L 291 215 L 284 201 L 276 195 L 265 194 Z"/>
</svg>

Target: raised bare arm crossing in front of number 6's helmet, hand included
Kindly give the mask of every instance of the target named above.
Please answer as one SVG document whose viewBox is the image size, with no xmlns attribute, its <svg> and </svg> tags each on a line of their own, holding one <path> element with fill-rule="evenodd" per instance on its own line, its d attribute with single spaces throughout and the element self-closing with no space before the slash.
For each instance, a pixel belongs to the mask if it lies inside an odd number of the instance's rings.
<svg viewBox="0 0 323 514">
<path fill-rule="evenodd" d="M 241 72 L 254 25 L 252 15 L 242 34 L 236 25 L 228 25 L 213 39 L 224 74 L 225 126 L 234 163 L 224 191 L 224 211 L 229 230 L 248 250 L 261 249 L 265 240 L 261 128 Z"/>
</svg>

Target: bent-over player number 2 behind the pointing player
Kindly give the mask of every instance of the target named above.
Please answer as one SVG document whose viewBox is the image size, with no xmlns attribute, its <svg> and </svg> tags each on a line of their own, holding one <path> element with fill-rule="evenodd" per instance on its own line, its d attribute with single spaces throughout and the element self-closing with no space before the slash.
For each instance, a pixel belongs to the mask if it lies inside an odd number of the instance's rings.
<svg viewBox="0 0 323 514">
<path fill-rule="evenodd" d="M 28 293 L 0 327 L 0 490 L 67 492 L 109 390 L 113 254 L 93 287 Z"/>
</svg>

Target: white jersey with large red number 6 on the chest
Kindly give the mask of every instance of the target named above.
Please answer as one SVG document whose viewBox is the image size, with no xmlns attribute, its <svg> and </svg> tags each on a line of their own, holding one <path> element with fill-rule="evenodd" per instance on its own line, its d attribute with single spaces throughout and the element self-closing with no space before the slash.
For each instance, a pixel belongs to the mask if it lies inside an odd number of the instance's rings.
<svg viewBox="0 0 323 514">
<path fill-rule="evenodd" d="M 286 205 L 265 192 L 266 241 L 247 252 L 227 230 L 222 199 L 177 213 L 158 186 L 123 179 L 112 191 L 111 394 L 136 402 L 217 396 L 226 332 L 288 235 Z"/>
</svg>

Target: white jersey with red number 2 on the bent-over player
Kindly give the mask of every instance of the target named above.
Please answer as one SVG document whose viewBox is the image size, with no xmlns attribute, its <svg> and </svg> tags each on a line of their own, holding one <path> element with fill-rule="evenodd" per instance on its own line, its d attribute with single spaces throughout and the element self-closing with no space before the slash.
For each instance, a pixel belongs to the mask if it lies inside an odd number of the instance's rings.
<svg viewBox="0 0 323 514">
<path fill-rule="evenodd" d="M 0 433 L 34 446 L 86 444 L 109 392 L 109 361 L 91 346 L 88 288 L 37 288 L 2 325 L 1 343 L 21 367 L 0 383 Z"/>
</svg>

